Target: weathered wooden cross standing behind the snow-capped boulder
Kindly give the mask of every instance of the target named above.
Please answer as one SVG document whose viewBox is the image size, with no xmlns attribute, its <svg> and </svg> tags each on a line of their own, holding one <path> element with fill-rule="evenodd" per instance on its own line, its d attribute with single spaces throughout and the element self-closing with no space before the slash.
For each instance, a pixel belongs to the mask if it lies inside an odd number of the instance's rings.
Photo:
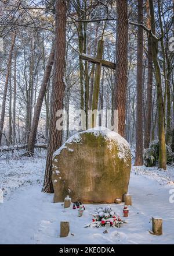
<svg viewBox="0 0 174 256">
<path fill-rule="evenodd" d="M 85 61 L 92 62 L 96 64 L 95 69 L 95 79 L 94 79 L 94 86 L 93 86 L 93 97 L 92 97 L 92 110 L 97 110 L 98 107 L 98 101 L 99 101 L 99 88 L 100 88 L 100 75 L 101 75 L 101 68 L 102 66 L 106 66 L 107 68 L 115 69 L 116 64 L 110 61 L 106 61 L 105 59 L 102 59 L 103 56 L 103 45 L 104 41 L 99 40 L 98 46 L 97 46 L 97 57 L 92 57 L 90 55 L 82 53 L 80 55 L 81 59 L 84 59 Z M 92 127 L 96 126 L 96 117 L 92 118 Z"/>
</svg>

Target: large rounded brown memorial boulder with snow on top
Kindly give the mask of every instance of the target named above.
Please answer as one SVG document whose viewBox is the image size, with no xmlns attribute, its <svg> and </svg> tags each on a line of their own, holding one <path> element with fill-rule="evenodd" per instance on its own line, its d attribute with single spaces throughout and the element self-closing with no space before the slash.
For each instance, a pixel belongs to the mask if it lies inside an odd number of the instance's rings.
<svg viewBox="0 0 174 256">
<path fill-rule="evenodd" d="M 107 128 L 79 132 L 53 155 L 54 202 L 111 204 L 128 192 L 131 171 L 129 143 Z"/>
</svg>

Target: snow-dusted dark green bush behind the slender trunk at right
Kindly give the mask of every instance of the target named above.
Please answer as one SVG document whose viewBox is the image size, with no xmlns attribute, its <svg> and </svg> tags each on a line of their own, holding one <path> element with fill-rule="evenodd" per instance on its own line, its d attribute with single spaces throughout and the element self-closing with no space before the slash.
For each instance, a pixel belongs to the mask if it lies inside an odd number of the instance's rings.
<svg viewBox="0 0 174 256">
<path fill-rule="evenodd" d="M 152 141 L 150 148 L 144 150 L 144 165 L 147 167 L 156 166 L 160 152 L 159 141 Z M 174 153 L 171 146 L 166 145 L 166 160 L 168 164 L 174 162 Z"/>
</svg>

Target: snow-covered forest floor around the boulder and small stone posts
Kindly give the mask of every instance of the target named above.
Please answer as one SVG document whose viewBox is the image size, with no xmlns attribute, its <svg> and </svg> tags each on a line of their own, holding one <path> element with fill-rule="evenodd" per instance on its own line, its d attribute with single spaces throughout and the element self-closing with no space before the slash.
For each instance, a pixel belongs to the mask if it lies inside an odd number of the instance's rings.
<svg viewBox="0 0 174 256">
<path fill-rule="evenodd" d="M 174 203 L 169 191 L 174 188 L 174 167 L 167 171 L 157 167 L 132 167 L 129 192 L 128 223 L 120 229 L 84 228 L 92 222 L 99 205 L 85 205 L 81 218 L 77 210 L 53 204 L 53 194 L 41 192 L 46 157 L 0 159 L 0 188 L 4 202 L 0 204 L 0 244 L 174 244 Z M 124 204 L 111 204 L 122 217 Z M 104 205 L 101 205 L 104 206 Z M 163 219 L 162 236 L 153 236 L 151 216 Z M 60 221 L 70 220 L 70 234 L 60 238 Z M 74 236 L 72 235 L 74 234 Z"/>
</svg>

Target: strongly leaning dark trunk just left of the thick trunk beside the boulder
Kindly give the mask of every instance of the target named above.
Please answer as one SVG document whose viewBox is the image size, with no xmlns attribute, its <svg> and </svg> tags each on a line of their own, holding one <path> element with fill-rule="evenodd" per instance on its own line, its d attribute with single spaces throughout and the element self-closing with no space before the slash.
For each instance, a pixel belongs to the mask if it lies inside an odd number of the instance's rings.
<svg viewBox="0 0 174 256">
<path fill-rule="evenodd" d="M 42 81 L 41 89 L 39 91 L 39 96 L 38 96 L 38 99 L 37 99 L 37 105 L 35 107 L 34 117 L 33 117 L 33 120 L 32 120 L 31 132 L 30 132 L 30 136 L 29 136 L 29 139 L 28 139 L 28 153 L 30 155 L 34 155 L 34 144 L 35 144 L 35 139 L 36 139 L 36 136 L 37 136 L 37 128 L 38 128 L 39 117 L 40 117 L 42 103 L 43 103 L 45 92 L 46 92 L 46 86 L 48 85 L 48 81 L 49 81 L 49 78 L 50 78 L 50 73 L 52 71 L 54 56 L 55 56 L 55 44 L 52 45 L 52 50 L 51 50 L 50 55 L 49 55 L 48 64 L 47 64 L 46 69 L 45 69 L 44 78 L 43 78 L 43 81 Z"/>
</svg>

